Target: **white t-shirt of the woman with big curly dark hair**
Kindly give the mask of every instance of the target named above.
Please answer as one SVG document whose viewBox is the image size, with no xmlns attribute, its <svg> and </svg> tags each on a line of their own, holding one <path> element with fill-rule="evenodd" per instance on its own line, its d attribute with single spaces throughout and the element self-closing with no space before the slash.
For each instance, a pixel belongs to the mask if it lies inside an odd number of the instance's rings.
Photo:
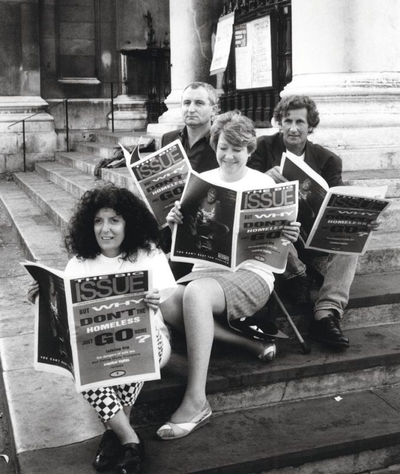
<svg viewBox="0 0 400 474">
<path fill-rule="evenodd" d="M 105 275 L 107 273 L 125 273 L 138 270 L 152 270 L 153 288 L 160 292 L 160 302 L 166 300 L 176 290 L 177 284 L 164 253 L 155 246 L 148 254 L 139 250 L 135 261 L 123 260 L 121 255 L 114 258 L 103 254 L 94 259 L 78 259 L 73 257 L 65 267 L 65 276 L 83 278 L 86 276 Z M 155 325 L 169 339 L 169 331 L 164 324 L 161 311 L 155 313 Z"/>
</svg>

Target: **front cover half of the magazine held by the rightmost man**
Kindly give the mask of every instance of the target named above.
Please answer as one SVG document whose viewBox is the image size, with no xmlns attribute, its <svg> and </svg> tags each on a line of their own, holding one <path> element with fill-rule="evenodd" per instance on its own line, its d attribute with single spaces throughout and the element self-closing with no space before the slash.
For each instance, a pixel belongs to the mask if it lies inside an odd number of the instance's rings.
<svg viewBox="0 0 400 474">
<path fill-rule="evenodd" d="M 306 248 L 328 253 L 364 254 L 372 231 L 367 225 L 389 206 L 387 186 L 330 188 L 315 219 Z"/>
</svg>

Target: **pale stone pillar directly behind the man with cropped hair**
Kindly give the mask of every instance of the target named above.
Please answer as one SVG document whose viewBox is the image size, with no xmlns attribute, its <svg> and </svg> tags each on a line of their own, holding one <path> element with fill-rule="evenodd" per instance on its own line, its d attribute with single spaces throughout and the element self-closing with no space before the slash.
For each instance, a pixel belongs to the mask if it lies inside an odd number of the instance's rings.
<svg viewBox="0 0 400 474">
<path fill-rule="evenodd" d="M 180 98 L 185 86 L 194 81 L 210 82 L 213 24 L 218 23 L 223 0 L 170 0 L 171 94 L 159 124 L 147 131 L 164 133 L 182 125 Z"/>
</svg>

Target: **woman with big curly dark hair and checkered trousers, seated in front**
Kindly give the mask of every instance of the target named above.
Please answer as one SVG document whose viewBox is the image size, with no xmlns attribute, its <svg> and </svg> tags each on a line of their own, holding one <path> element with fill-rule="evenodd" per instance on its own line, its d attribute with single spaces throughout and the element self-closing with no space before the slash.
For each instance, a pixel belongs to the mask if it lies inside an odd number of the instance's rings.
<svg viewBox="0 0 400 474">
<path fill-rule="evenodd" d="M 87 191 L 77 204 L 65 237 L 65 246 L 74 255 L 65 273 L 81 278 L 157 269 L 153 271 L 153 292 L 144 301 L 155 311 L 159 360 L 163 367 L 171 346 L 158 306 L 176 288 L 176 283 L 160 250 L 159 235 L 154 216 L 129 190 L 105 186 Z M 29 285 L 30 301 L 34 301 L 38 290 L 37 282 Z M 93 461 L 97 471 L 115 468 L 117 474 L 139 473 L 143 442 L 131 427 L 129 415 L 142 386 L 143 382 L 138 382 L 83 392 L 106 429 Z"/>
</svg>

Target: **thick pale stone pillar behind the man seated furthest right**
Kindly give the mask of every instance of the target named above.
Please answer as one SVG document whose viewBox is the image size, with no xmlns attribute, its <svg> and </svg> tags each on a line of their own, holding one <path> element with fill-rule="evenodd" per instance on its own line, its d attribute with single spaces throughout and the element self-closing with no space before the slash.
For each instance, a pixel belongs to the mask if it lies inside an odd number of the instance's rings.
<svg viewBox="0 0 400 474">
<path fill-rule="evenodd" d="M 398 145 L 400 1 L 292 0 L 293 80 L 307 94 L 327 146 Z"/>
</svg>

